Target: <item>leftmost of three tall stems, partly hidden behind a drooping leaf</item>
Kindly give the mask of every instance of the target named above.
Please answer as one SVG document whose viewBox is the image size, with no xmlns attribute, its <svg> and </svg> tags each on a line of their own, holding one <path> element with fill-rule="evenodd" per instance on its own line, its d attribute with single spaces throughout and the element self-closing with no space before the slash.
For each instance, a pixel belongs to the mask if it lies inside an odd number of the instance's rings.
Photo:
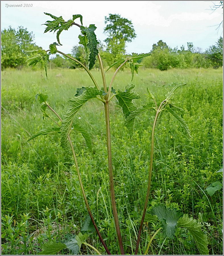
<svg viewBox="0 0 224 256">
<path fill-rule="evenodd" d="M 53 110 L 49 105 L 47 105 L 47 107 L 53 112 L 55 113 L 55 115 L 57 115 L 57 117 L 59 118 L 60 121 L 62 121 L 61 117 L 57 114 L 57 112 L 55 112 L 55 110 Z M 59 124 L 58 124 L 59 125 Z M 60 125 L 59 125 L 60 126 Z M 90 210 L 90 206 L 88 204 L 88 201 L 87 201 L 87 198 L 86 198 L 86 193 L 84 191 L 84 187 L 83 187 L 83 184 L 82 184 L 82 179 L 81 179 L 81 176 L 80 176 L 80 171 L 79 171 L 79 167 L 78 167 L 78 161 L 77 161 L 77 158 L 76 158 L 76 154 L 75 154 L 75 151 L 74 151 L 74 147 L 73 147 L 73 144 L 72 144 L 72 141 L 71 141 L 71 138 L 70 138 L 70 135 L 68 135 L 68 140 L 69 140 L 69 144 L 70 144 L 70 147 L 72 149 L 72 155 L 73 155 L 73 158 L 74 158 L 74 162 L 75 162 L 75 167 L 76 167 L 76 171 L 77 171 L 77 174 L 78 174 L 78 180 L 79 180 L 79 183 L 80 183 L 80 187 L 81 187 L 81 190 L 82 190 L 82 195 L 84 197 L 84 201 L 85 201 L 85 204 L 86 204 L 86 208 L 88 210 L 88 213 L 90 215 L 90 218 L 92 220 L 92 223 L 94 225 L 94 228 L 96 229 L 96 232 L 99 236 L 99 239 L 103 245 L 103 247 L 105 248 L 106 252 L 111 255 L 109 249 L 107 248 L 107 245 L 105 244 L 105 242 L 103 241 L 103 238 L 101 237 L 101 234 L 99 233 L 99 230 L 96 226 L 96 222 L 92 216 L 92 212 Z"/>
</svg>

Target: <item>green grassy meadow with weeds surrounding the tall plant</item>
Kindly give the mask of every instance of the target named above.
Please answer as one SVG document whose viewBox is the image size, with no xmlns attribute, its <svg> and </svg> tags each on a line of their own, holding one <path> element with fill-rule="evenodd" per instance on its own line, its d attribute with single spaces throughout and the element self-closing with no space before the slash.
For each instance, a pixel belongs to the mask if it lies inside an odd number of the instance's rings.
<svg viewBox="0 0 224 256">
<path fill-rule="evenodd" d="M 100 72 L 92 71 L 101 84 Z M 109 83 L 113 73 L 108 71 Z M 186 82 L 175 94 L 184 109 L 182 117 L 192 139 L 170 115 L 163 115 L 155 131 L 154 169 L 149 206 L 164 203 L 198 219 L 208 235 L 210 254 L 222 254 L 222 189 L 212 197 L 205 191 L 212 182 L 222 182 L 222 69 L 173 69 L 159 71 L 140 69 L 133 84 L 147 101 L 146 87 L 157 103 L 175 84 Z M 113 87 L 124 89 L 130 84 L 129 71 L 118 73 Z M 2 254 L 37 254 L 44 241 L 64 241 L 77 234 L 88 215 L 72 155 L 60 147 L 59 135 L 40 136 L 26 142 L 30 134 L 54 126 L 42 119 L 36 93 L 49 95 L 50 105 L 61 115 L 67 110 L 76 88 L 93 86 L 83 70 L 43 71 L 6 70 L 2 72 Z M 122 111 L 111 104 L 111 140 L 115 194 L 123 243 L 128 254 L 134 254 L 144 198 L 147 189 L 150 141 L 154 112 L 136 118 L 134 135 L 123 127 Z M 80 109 L 75 121 L 84 125 L 93 138 L 93 152 L 84 139 L 73 133 L 72 140 L 80 166 L 84 187 L 99 230 L 113 254 L 119 252 L 113 224 L 107 171 L 107 148 L 103 104 L 89 101 Z M 157 222 L 144 224 L 139 253 Z M 95 233 L 89 238 L 101 253 L 104 248 Z M 83 246 L 82 254 L 95 254 Z M 63 250 L 61 254 L 69 254 Z M 199 254 L 192 237 L 177 229 L 174 239 L 159 233 L 149 254 Z"/>
</svg>

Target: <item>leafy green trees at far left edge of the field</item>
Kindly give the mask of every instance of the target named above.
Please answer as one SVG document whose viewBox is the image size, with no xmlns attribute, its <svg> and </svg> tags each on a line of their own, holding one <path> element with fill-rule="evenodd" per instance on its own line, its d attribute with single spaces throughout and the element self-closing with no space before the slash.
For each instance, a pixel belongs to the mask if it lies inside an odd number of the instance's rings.
<svg viewBox="0 0 224 256">
<path fill-rule="evenodd" d="M 9 26 L 1 30 L 1 68 L 21 68 L 33 53 L 24 50 L 42 49 L 33 42 L 33 32 L 19 26 L 17 30 Z"/>
</svg>

